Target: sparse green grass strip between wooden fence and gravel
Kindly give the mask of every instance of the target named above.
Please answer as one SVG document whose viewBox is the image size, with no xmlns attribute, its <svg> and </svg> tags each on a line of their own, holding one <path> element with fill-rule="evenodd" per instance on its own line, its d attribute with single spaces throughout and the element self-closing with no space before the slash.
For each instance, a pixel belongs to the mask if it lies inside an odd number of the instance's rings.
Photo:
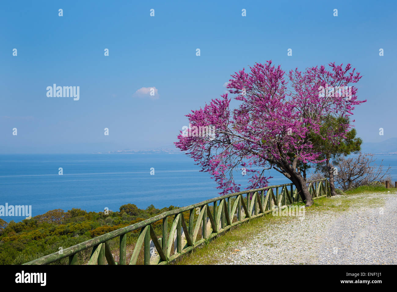
<svg viewBox="0 0 397 292">
<path fill-rule="evenodd" d="M 333 211 L 341 213 L 349 208 L 379 207 L 384 206 L 384 198 L 371 196 L 372 193 L 395 192 L 397 188 L 386 189 L 385 186 L 361 186 L 355 190 L 350 190 L 341 196 L 333 198 L 318 198 L 310 207 L 306 207 L 306 212 L 312 211 Z M 363 198 L 366 198 L 363 200 Z M 298 203 L 299 204 L 299 203 Z M 217 236 L 212 241 L 207 241 L 202 246 L 196 248 L 191 253 L 181 256 L 172 264 L 176 265 L 214 265 L 218 263 L 220 254 L 233 254 L 239 252 L 235 250 L 235 242 L 244 242 L 247 238 L 252 238 L 258 233 L 266 230 L 266 226 L 273 224 L 285 224 L 293 220 L 292 217 L 272 216 L 268 213 L 263 217 L 252 219 L 241 225 L 237 225 L 231 231 Z M 289 225 L 293 228 L 293 225 Z M 265 245 L 272 246 L 271 242 Z"/>
</svg>

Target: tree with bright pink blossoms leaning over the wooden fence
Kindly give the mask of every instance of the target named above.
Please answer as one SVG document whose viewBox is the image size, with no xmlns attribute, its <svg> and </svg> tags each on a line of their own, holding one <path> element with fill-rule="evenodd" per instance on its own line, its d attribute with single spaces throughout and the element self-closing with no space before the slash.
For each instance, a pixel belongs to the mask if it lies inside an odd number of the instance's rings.
<svg viewBox="0 0 397 292">
<path fill-rule="evenodd" d="M 236 171 L 239 175 L 241 169 L 246 171 L 248 189 L 253 189 L 267 186 L 266 170 L 273 168 L 295 184 L 310 206 L 312 196 L 297 169 L 299 163 L 322 161 L 310 137 L 321 134 L 326 117 L 349 117 L 355 105 L 363 102 L 357 100 L 354 86 L 350 91 L 345 88 L 357 83 L 359 73 L 350 64 L 329 66 L 330 70 L 312 67 L 286 75 L 280 66 L 267 61 L 256 63 L 249 73 L 245 69 L 235 72 L 227 88 L 239 106 L 230 109 L 231 99 L 224 94 L 192 111 L 187 115 L 191 130 L 179 134 L 176 147 L 212 175 L 220 194 L 240 190 L 233 179 Z M 332 135 L 343 137 L 349 127 Z"/>
</svg>

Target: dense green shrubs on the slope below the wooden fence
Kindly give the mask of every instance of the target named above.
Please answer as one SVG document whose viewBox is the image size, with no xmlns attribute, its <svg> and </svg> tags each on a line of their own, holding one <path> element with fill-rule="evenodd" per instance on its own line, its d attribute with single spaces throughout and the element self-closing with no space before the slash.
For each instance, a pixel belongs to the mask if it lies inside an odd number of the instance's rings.
<svg viewBox="0 0 397 292">
<path fill-rule="evenodd" d="M 55 209 L 17 223 L 0 219 L 0 264 L 26 263 L 172 209 L 175 207 L 156 209 L 150 205 L 143 210 L 126 204 L 118 212 Z M 161 223 L 152 224 L 158 234 L 161 234 Z M 133 243 L 138 236 L 139 231 L 129 232 L 127 243 Z"/>
</svg>

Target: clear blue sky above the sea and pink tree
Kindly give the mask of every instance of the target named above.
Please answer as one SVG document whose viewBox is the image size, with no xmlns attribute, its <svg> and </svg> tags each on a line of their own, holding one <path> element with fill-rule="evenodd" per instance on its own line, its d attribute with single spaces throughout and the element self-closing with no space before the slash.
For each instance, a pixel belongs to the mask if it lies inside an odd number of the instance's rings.
<svg viewBox="0 0 397 292">
<path fill-rule="evenodd" d="M 396 6 L 394 1 L 4 2 L 0 153 L 172 147 L 187 125 L 185 114 L 223 94 L 233 72 L 266 60 L 285 71 L 351 63 L 363 75 L 358 96 L 368 100 L 355 111 L 358 136 L 364 142 L 396 137 Z M 54 83 L 80 86 L 80 99 L 47 97 L 46 87 Z M 137 96 L 143 87 L 155 87 L 158 98 Z"/>
</svg>

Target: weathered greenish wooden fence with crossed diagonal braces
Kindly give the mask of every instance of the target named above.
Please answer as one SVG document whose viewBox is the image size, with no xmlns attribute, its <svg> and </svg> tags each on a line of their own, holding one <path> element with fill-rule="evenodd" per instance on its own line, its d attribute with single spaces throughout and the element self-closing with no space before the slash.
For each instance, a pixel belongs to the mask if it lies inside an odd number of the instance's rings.
<svg viewBox="0 0 397 292">
<path fill-rule="evenodd" d="M 330 196 L 331 192 L 327 179 L 309 181 L 307 184 L 308 190 L 314 199 Z M 280 188 L 281 191 L 279 191 Z M 244 195 L 246 195 L 246 198 L 243 197 Z M 302 199 L 297 193 L 296 188 L 295 190 L 293 189 L 292 183 L 245 190 L 206 200 L 194 205 L 166 211 L 139 223 L 102 234 L 66 248 L 63 250 L 62 254 L 55 252 L 29 261 L 24 265 L 46 265 L 66 257 L 69 257 L 70 265 L 77 265 L 77 256 L 79 252 L 91 248 L 92 252 L 88 262 L 89 265 L 105 265 L 106 263 L 109 265 L 126 265 L 127 233 L 136 230 L 140 230 L 141 233 L 135 244 L 129 264 L 135 265 L 137 263 L 138 255 L 142 248 L 144 249 L 145 265 L 167 264 L 177 259 L 177 257 L 197 248 L 197 246 L 205 241 L 230 230 L 236 225 L 272 212 L 273 206 L 282 207 L 299 201 L 302 201 Z M 213 205 L 211 206 L 212 208 L 209 206 L 211 203 Z M 183 212 L 186 211 L 189 211 L 188 224 L 183 216 Z M 195 211 L 198 213 L 196 220 Z M 171 229 L 168 231 L 168 217 L 172 216 Z M 153 223 L 159 220 L 162 220 L 162 238 L 157 238 L 152 226 Z M 200 229 L 201 232 L 199 232 Z M 184 238 L 182 236 L 183 234 Z M 119 262 L 114 260 L 108 243 L 109 240 L 116 237 L 119 237 Z M 150 238 L 158 253 L 158 258 L 156 258 L 155 262 L 150 259 Z M 174 249 L 172 249 L 172 246 L 174 246 Z M 173 252 L 173 254 L 171 254 L 171 252 Z"/>
</svg>

